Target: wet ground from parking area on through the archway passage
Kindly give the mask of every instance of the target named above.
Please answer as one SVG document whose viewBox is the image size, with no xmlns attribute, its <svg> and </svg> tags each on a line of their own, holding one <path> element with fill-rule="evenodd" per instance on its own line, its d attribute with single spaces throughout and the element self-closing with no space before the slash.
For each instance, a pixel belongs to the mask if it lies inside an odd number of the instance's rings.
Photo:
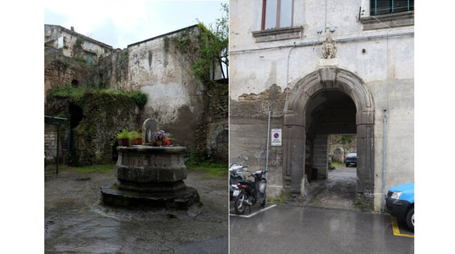
<svg viewBox="0 0 455 254">
<path fill-rule="evenodd" d="M 355 167 L 337 166 L 307 187 L 306 199 L 260 213 L 256 204 L 245 211 L 257 213 L 252 217 L 230 216 L 230 254 L 414 253 L 414 238 L 394 235 L 390 215 L 354 208 Z M 398 226 L 413 235 L 404 222 Z"/>
</svg>

